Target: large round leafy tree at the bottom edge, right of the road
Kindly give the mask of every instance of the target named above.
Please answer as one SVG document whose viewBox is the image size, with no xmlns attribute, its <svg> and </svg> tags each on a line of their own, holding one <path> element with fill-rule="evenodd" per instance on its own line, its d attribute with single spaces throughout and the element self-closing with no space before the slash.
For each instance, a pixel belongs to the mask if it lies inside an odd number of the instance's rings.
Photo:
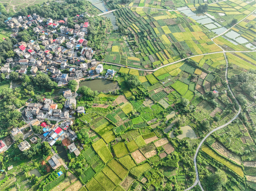
<svg viewBox="0 0 256 191">
<path fill-rule="evenodd" d="M 212 191 L 221 191 L 222 186 L 227 183 L 227 175 L 224 171 L 218 170 L 214 174 L 211 174 L 207 177 L 208 188 Z"/>
</svg>

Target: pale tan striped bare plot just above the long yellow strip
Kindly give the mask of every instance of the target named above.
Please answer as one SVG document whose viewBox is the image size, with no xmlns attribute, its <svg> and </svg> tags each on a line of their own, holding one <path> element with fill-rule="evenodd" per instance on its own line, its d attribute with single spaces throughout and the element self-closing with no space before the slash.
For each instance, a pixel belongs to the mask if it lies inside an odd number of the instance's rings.
<svg viewBox="0 0 256 191">
<path fill-rule="evenodd" d="M 218 153 L 220 153 L 221 155 L 223 155 L 223 156 L 229 158 L 230 160 L 233 160 L 237 164 L 241 165 L 241 163 L 242 163 L 241 158 L 238 155 L 236 155 L 235 153 L 228 151 L 228 149 L 226 149 L 224 146 L 222 146 L 218 141 L 215 141 L 212 144 L 212 148 L 215 151 L 217 151 Z"/>
</svg>

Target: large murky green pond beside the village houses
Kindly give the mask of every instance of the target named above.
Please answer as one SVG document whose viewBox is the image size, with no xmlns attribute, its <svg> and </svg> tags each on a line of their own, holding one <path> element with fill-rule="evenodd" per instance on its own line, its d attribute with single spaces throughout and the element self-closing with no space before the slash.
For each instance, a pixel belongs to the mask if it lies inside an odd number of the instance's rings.
<svg viewBox="0 0 256 191">
<path fill-rule="evenodd" d="M 105 92 L 105 93 L 120 89 L 116 81 L 114 82 L 114 81 L 105 80 L 105 79 L 94 79 L 94 80 L 83 81 L 79 84 L 79 87 L 82 87 L 84 85 L 91 88 L 92 91 Z"/>
</svg>

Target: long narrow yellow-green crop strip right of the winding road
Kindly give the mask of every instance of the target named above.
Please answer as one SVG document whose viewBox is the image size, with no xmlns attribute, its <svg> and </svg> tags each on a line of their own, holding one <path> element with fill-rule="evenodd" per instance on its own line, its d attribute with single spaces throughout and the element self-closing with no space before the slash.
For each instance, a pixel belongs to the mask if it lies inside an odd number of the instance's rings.
<svg viewBox="0 0 256 191">
<path fill-rule="evenodd" d="M 243 173 L 243 169 L 240 166 L 237 166 L 231 162 L 229 162 L 228 160 L 226 160 L 225 158 L 221 157 L 220 155 L 218 155 L 216 152 L 214 152 L 210 147 L 208 147 L 207 145 L 204 145 L 202 147 L 202 151 L 204 151 L 206 154 L 208 154 L 209 156 L 211 156 L 212 158 L 214 158 L 215 160 L 219 161 L 220 163 L 222 163 L 223 165 L 227 166 L 229 169 L 231 169 L 232 171 L 234 171 L 236 174 L 238 174 L 241 177 L 244 177 L 244 173 Z"/>
</svg>

